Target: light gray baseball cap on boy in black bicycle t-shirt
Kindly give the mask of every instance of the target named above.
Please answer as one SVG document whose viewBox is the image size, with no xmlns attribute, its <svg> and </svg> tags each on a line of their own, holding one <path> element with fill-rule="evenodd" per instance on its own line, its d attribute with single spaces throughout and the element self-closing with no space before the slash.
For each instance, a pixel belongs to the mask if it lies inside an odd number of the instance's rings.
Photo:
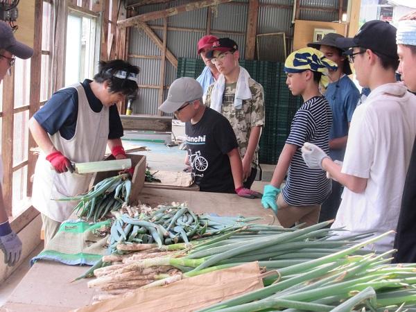
<svg viewBox="0 0 416 312">
<path fill-rule="evenodd" d="M 166 113 L 176 112 L 184 103 L 198 100 L 203 94 L 201 85 L 195 79 L 178 78 L 169 87 L 168 98 L 159 106 L 159 110 Z"/>
</svg>

